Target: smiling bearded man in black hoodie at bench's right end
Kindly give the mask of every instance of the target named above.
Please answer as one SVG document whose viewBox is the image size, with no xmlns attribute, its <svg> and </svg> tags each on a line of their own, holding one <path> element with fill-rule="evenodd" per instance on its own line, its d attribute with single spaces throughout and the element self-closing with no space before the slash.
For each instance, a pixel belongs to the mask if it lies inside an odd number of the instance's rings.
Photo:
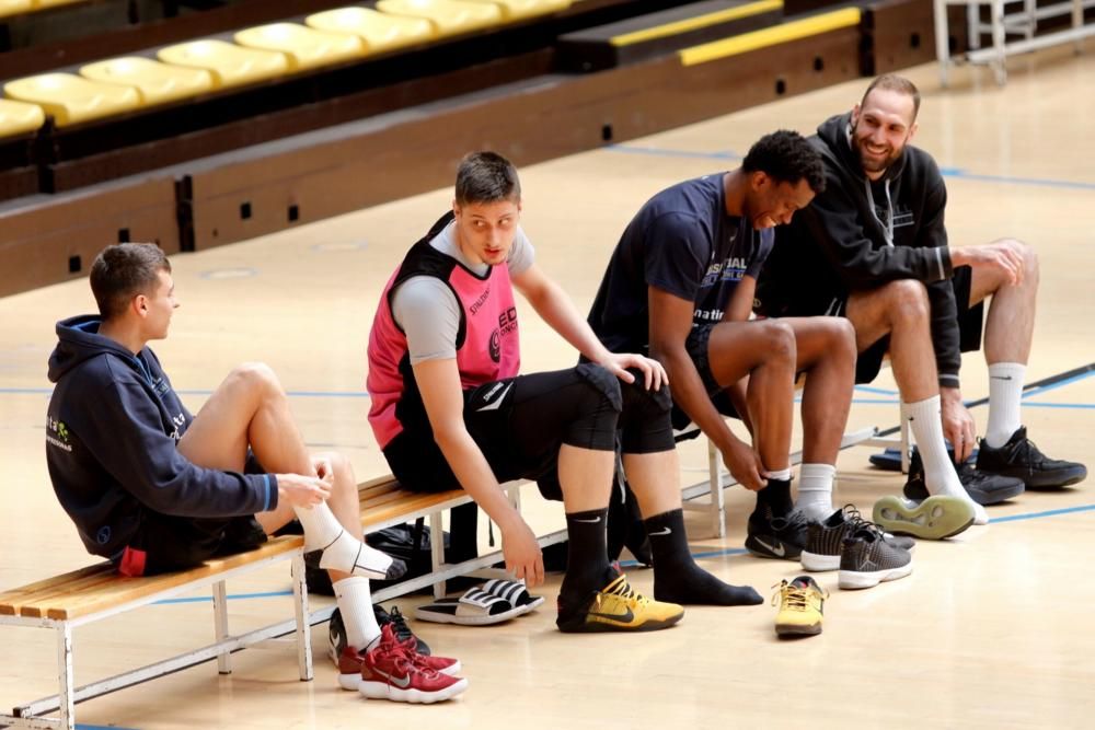
<svg viewBox="0 0 1095 730">
<path fill-rule="evenodd" d="M 963 498 L 984 524 L 981 506 L 1022 493 L 1019 480 L 1026 488 L 1061 487 L 1082 480 L 1087 470 L 1048 459 L 1021 422 L 1037 256 L 1010 239 L 948 244 L 943 175 L 929 153 L 910 143 L 919 111 L 915 85 L 886 74 L 850 113 L 818 127 L 810 141 L 825 162 L 826 189 L 776 233 L 779 244 L 758 285 L 758 309 L 772 316 L 846 317 L 855 327 L 856 382 L 873 380 L 888 351 L 902 417 L 923 460 L 919 484 L 911 488 L 910 480 L 906 495 Z M 967 472 L 959 480 L 944 438 L 958 463 L 965 462 L 975 432 L 958 370 L 961 351 L 980 346 L 987 300 L 989 422 L 979 474 Z"/>
</svg>

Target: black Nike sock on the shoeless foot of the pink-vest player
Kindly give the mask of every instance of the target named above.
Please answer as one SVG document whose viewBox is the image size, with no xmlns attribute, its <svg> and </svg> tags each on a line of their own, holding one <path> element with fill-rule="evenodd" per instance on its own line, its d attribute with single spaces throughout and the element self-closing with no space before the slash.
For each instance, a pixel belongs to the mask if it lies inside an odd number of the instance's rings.
<svg viewBox="0 0 1095 730">
<path fill-rule="evenodd" d="M 691 605 L 756 605 L 760 594 L 748 586 L 730 586 L 692 559 L 684 534 L 684 510 L 675 509 L 644 521 L 654 554 L 654 598 Z"/>
</svg>

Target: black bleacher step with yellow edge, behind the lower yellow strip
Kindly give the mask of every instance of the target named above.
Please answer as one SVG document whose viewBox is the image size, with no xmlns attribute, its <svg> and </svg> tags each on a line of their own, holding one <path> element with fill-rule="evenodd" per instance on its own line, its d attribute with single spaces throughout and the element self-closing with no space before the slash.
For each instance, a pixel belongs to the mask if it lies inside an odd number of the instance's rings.
<svg viewBox="0 0 1095 730">
<path fill-rule="evenodd" d="M 774 25 L 782 0 L 704 0 L 560 36 L 562 71 L 587 73 Z"/>
</svg>

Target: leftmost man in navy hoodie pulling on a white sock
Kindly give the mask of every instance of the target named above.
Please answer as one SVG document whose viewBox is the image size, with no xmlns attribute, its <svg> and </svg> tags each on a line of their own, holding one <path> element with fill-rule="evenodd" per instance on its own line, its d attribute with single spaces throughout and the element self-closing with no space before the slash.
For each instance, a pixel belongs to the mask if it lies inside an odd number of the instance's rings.
<svg viewBox="0 0 1095 730">
<path fill-rule="evenodd" d="M 147 346 L 168 336 L 178 306 L 154 244 L 105 248 L 91 288 L 100 314 L 57 324 L 46 425 L 49 477 L 88 552 L 123 575 L 152 575 L 254 547 L 296 517 L 306 549 L 322 551 L 349 649 L 377 646 L 368 579 L 402 566 L 356 536 L 349 463 L 309 455 L 285 391 L 260 363 L 234 369 L 191 415 Z"/>
</svg>

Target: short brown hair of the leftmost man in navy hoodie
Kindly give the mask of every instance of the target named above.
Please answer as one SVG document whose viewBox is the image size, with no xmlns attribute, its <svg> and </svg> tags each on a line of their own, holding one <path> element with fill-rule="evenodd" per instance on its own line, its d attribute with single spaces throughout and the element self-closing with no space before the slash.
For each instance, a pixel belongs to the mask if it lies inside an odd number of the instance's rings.
<svg viewBox="0 0 1095 730">
<path fill-rule="evenodd" d="M 171 262 L 154 243 L 118 243 L 103 248 L 91 265 L 91 292 L 103 320 L 118 316 L 129 301 L 149 293 Z"/>
</svg>

